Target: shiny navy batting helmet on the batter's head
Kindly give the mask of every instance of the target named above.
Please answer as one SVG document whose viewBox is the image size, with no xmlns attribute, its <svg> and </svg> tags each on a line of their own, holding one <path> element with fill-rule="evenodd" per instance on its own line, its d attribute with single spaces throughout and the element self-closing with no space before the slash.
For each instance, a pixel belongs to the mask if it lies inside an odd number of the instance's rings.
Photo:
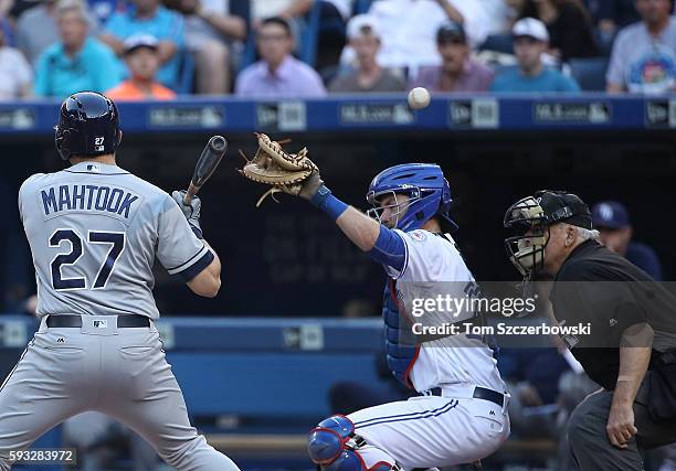
<svg viewBox="0 0 676 471">
<path fill-rule="evenodd" d="M 122 138 L 117 106 L 96 92 L 67 97 L 54 126 L 54 143 L 63 160 L 73 156 L 113 153 Z"/>
</svg>

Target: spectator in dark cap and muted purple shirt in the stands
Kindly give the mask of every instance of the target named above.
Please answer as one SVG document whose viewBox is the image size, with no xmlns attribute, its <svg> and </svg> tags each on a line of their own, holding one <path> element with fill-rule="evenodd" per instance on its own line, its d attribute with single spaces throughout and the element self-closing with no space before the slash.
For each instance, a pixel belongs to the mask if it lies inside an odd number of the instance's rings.
<svg viewBox="0 0 676 471">
<path fill-rule="evenodd" d="M 423 67 L 412 87 L 431 92 L 487 92 L 493 71 L 469 57 L 471 49 L 462 24 L 448 21 L 436 31 L 436 46 L 442 65 Z"/>
</svg>

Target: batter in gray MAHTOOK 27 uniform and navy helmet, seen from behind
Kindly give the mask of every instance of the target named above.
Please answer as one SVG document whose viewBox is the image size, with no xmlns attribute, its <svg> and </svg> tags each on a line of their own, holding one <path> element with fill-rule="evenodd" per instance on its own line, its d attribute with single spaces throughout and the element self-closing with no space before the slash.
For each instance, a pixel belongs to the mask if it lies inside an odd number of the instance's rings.
<svg viewBox="0 0 676 471">
<path fill-rule="evenodd" d="M 112 100 L 72 95 L 55 128 L 72 167 L 32 175 L 19 192 L 41 324 L 0 389 L 0 470 L 12 450 L 85 410 L 124 422 L 178 470 L 237 470 L 190 426 L 154 325 L 156 258 L 196 293 L 219 291 L 201 203 L 183 206 L 181 192 L 169 196 L 117 167 L 120 139 Z"/>
</svg>

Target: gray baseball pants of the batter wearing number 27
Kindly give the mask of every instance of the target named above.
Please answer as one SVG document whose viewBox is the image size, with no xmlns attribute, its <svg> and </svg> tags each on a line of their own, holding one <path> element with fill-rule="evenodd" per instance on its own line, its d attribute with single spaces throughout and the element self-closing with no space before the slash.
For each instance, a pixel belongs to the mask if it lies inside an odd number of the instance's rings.
<svg viewBox="0 0 676 471">
<path fill-rule="evenodd" d="M 87 315 L 82 328 L 47 329 L 43 320 L 2 384 L 0 471 L 10 469 L 11 450 L 85 410 L 127 425 L 179 471 L 239 470 L 190 426 L 157 329 L 117 329 L 115 317 Z"/>
</svg>

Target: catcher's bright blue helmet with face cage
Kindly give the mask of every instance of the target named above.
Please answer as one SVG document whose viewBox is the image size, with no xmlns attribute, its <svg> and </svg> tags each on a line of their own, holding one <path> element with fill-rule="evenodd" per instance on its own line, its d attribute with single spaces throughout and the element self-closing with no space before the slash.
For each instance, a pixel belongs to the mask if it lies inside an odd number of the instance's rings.
<svg viewBox="0 0 676 471">
<path fill-rule="evenodd" d="M 380 202 L 384 196 L 405 194 L 409 196 L 406 207 L 399 208 L 395 227 L 403 231 L 415 231 L 434 216 L 441 216 L 457 229 L 450 216 L 451 186 L 442 169 L 434 163 L 404 163 L 390 167 L 376 175 L 369 185 L 367 201 L 373 206 L 369 211 L 380 221 L 383 210 Z M 391 206 L 399 205 L 395 203 Z M 399 216 L 400 213 L 403 213 Z"/>
</svg>

